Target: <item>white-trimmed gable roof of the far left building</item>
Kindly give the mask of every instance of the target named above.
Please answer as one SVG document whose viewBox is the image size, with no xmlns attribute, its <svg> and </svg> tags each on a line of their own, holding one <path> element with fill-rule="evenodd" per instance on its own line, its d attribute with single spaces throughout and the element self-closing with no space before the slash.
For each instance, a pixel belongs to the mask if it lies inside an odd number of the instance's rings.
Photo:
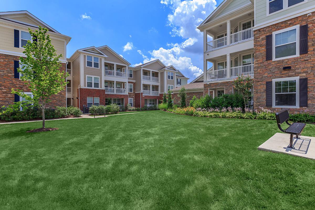
<svg viewBox="0 0 315 210">
<path fill-rule="evenodd" d="M 44 23 L 42 20 L 40 20 L 39 18 L 37 18 L 35 15 L 31 14 L 29 11 L 27 10 L 21 10 L 21 11 L 8 11 L 8 12 L 0 12 L 0 17 L 1 19 L 4 19 L 4 20 L 10 20 L 12 22 L 16 22 L 16 23 L 20 23 L 20 24 L 23 24 L 23 25 L 26 25 L 26 26 L 33 26 L 33 27 L 37 27 L 36 25 L 33 25 L 33 24 L 30 24 L 30 23 L 26 23 L 26 22 L 23 22 L 23 21 L 19 21 L 19 20 L 14 20 L 12 18 L 10 18 L 10 16 L 14 17 L 14 16 L 26 16 L 28 17 L 30 20 L 34 21 L 34 22 L 37 22 L 39 25 L 42 25 L 42 26 L 45 26 L 49 31 L 53 31 L 55 33 L 59 33 L 57 30 L 55 30 L 53 27 L 49 26 L 48 24 Z"/>
</svg>

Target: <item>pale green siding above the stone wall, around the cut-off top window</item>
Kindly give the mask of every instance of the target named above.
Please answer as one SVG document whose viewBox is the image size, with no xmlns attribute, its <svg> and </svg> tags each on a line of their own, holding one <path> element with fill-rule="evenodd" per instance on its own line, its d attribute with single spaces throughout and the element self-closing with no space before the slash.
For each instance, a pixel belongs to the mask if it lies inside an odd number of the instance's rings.
<svg viewBox="0 0 315 210">
<path fill-rule="evenodd" d="M 255 5 L 255 20 L 256 20 L 256 25 L 261 24 L 261 23 L 268 23 L 273 19 L 278 19 L 282 16 L 287 16 L 291 13 L 294 13 L 295 11 L 305 9 L 307 7 L 314 6 L 315 0 L 308 0 L 305 3 L 302 3 L 297 6 L 291 6 L 288 9 L 284 9 L 280 12 L 276 12 L 273 14 L 270 14 L 267 16 L 267 1 L 266 0 L 256 0 L 256 5 Z"/>
</svg>

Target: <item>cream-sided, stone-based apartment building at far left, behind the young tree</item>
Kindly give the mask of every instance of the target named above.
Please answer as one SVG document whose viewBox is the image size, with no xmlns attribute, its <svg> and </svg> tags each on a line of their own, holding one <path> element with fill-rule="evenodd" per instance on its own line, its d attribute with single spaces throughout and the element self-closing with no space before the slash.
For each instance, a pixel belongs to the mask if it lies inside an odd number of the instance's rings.
<svg viewBox="0 0 315 210">
<path fill-rule="evenodd" d="M 60 58 L 60 71 L 66 71 L 66 46 L 71 37 L 61 34 L 51 26 L 39 20 L 28 11 L 0 12 L 0 106 L 8 106 L 14 102 L 22 101 L 23 98 L 17 94 L 12 94 L 12 88 L 18 88 L 24 93 L 32 96 L 27 85 L 20 80 L 19 59 L 23 54 L 24 46 L 32 37 L 28 28 L 38 29 L 38 26 L 46 27 L 49 30 L 51 43 L 57 50 L 57 54 L 62 54 Z M 48 107 L 66 105 L 66 88 L 59 94 L 54 95 Z"/>
</svg>

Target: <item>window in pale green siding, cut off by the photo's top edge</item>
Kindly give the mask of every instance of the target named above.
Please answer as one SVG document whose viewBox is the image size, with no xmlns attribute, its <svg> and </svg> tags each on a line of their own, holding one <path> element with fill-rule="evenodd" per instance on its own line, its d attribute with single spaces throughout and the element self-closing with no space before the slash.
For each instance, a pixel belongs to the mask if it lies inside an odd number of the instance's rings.
<svg viewBox="0 0 315 210">
<path fill-rule="evenodd" d="M 267 0 L 267 15 L 303 2 L 307 2 L 307 0 Z"/>
</svg>

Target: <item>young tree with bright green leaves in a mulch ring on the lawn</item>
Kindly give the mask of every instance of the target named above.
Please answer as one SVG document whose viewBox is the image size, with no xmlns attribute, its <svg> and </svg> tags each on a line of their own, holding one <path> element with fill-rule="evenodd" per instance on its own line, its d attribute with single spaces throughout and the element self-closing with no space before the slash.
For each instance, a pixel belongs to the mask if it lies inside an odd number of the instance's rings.
<svg viewBox="0 0 315 210">
<path fill-rule="evenodd" d="M 27 42 L 23 51 L 26 57 L 20 57 L 20 64 L 23 69 L 19 68 L 18 72 L 22 75 L 20 79 L 31 90 L 33 98 L 19 89 L 14 90 L 12 88 L 12 93 L 24 97 L 29 103 L 42 110 L 44 129 L 46 105 L 51 100 L 52 95 L 65 90 L 68 73 L 60 71 L 59 58 L 62 55 L 56 54 L 49 34 L 47 34 L 48 29 L 39 26 L 38 30 L 28 29 L 28 31 L 34 40 Z"/>
</svg>

